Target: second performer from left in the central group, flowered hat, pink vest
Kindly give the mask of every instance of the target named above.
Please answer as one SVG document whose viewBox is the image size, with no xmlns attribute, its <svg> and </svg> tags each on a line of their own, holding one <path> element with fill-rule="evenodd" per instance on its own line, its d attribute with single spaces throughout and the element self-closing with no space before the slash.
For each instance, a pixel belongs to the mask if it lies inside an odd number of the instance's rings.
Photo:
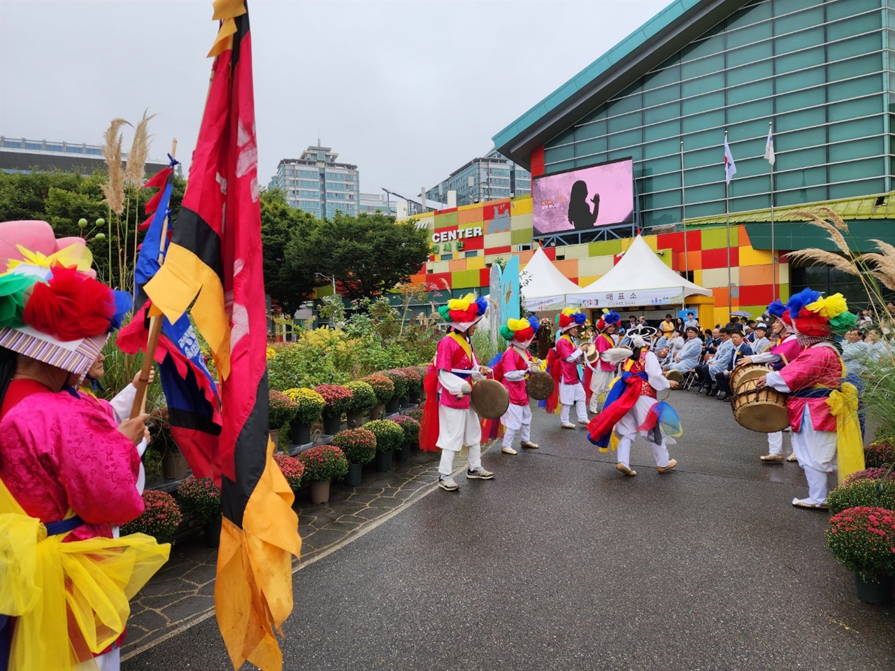
<svg viewBox="0 0 895 671">
<path fill-rule="evenodd" d="M 507 323 L 500 327 L 500 336 L 510 344 L 500 358 L 500 368 L 503 370 L 501 382 L 507 387 L 509 394 L 507 412 L 500 418 L 500 423 L 506 428 L 503 445 L 500 447 L 500 451 L 504 454 L 518 454 L 513 449 L 516 432 L 522 438 L 521 446 L 532 450 L 538 449 L 538 445 L 532 442 L 532 409 L 529 407 L 527 389 L 529 374 L 541 372 L 538 362 L 528 353 L 528 346 L 532 344 L 537 331 L 536 317 L 508 319 Z"/>
</svg>

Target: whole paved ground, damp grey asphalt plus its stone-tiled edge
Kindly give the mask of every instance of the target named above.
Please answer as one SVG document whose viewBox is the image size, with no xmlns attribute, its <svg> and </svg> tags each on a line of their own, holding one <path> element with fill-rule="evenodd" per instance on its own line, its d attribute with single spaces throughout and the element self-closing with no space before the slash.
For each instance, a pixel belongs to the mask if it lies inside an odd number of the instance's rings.
<svg viewBox="0 0 895 671">
<path fill-rule="evenodd" d="M 671 402 L 686 434 L 669 473 L 639 440 L 626 478 L 583 429 L 536 412 L 541 449 L 492 448 L 493 481 L 441 491 L 434 455 L 418 454 L 302 505 L 284 668 L 891 671 L 895 608 L 858 602 L 825 548 L 827 515 L 790 505 L 797 464 L 760 463 L 764 437 L 726 403 Z M 183 629 L 211 606 L 213 559 L 180 553 L 138 599 L 132 631 L 153 603 L 157 625 L 132 634 L 124 669 L 228 667 L 213 618 Z"/>
</svg>

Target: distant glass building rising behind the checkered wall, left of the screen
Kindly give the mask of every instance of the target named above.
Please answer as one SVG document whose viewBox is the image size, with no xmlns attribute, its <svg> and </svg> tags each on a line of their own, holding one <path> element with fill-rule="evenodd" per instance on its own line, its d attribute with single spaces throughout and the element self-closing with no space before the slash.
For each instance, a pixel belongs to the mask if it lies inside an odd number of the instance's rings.
<svg viewBox="0 0 895 671">
<path fill-rule="evenodd" d="M 426 191 L 426 199 L 447 203 L 447 191 L 456 191 L 457 206 L 514 198 L 532 192 L 532 174 L 491 149 L 485 156 L 473 158 L 444 182 Z"/>
</svg>

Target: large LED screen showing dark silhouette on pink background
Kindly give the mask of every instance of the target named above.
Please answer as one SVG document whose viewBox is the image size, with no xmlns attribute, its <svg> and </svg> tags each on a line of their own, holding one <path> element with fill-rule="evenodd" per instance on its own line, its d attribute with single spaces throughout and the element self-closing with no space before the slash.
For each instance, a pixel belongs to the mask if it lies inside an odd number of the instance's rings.
<svg viewBox="0 0 895 671">
<path fill-rule="evenodd" d="M 535 236 L 631 224 L 634 162 L 623 158 L 535 177 L 532 208 Z"/>
</svg>

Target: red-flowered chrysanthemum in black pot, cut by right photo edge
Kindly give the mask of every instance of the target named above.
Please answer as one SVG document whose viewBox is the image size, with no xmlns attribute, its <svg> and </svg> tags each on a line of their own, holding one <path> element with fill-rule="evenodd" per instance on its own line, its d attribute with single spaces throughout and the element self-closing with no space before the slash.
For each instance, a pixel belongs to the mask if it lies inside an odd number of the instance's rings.
<svg viewBox="0 0 895 671">
<path fill-rule="evenodd" d="M 857 598 L 888 606 L 895 576 L 895 512 L 858 505 L 830 518 L 827 546 L 841 565 L 855 573 Z"/>
</svg>

